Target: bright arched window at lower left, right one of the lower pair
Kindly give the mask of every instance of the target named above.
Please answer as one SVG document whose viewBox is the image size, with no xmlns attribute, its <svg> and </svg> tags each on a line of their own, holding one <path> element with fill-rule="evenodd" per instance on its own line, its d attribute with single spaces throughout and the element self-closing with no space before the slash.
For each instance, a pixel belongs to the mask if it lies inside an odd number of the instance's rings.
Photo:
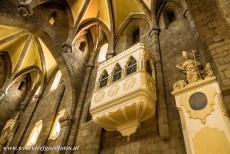
<svg viewBox="0 0 230 154">
<path fill-rule="evenodd" d="M 58 135 L 60 134 L 61 131 L 61 125 L 59 123 L 59 119 L 63 117 L 65 114 L 65 109 L 61 110 L 58 112 L 57 117 L 54 120 L 49 139 L 55 140 L 57 139 Z"/>
</svg>

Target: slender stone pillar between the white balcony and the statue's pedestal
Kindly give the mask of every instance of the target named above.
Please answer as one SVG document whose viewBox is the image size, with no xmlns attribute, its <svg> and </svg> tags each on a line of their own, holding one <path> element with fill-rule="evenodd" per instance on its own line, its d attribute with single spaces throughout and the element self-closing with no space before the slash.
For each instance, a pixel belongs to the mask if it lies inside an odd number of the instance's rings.
<svg viewBox="0 0 230 154">
<path fill-rule="evenodd" d="M 166 98 L 164 90 L 164 76 L 161 62 L 160 42 L 159 42 L 159 28 L 153 28 L 149 36 L 153 40 L 153 49 L 156 52 L 156 83 L 157 83 L 157 114 L 159 133 L 163 139 L 169 137 L 168 118 L 166 110 Z"/>
</svg>

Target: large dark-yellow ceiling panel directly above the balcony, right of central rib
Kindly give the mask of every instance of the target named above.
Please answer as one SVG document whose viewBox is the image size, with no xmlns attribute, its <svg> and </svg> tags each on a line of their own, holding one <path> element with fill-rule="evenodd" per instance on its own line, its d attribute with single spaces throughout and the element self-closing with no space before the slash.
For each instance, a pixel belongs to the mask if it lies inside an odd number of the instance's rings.
<svg viewBox="0 0 230 154">
<path fill-rule="evenodd" d="M 112 0 L 113 11 L 115 14 L 115 27 L 116 31 L 121 27 L 122 23 L 132 13 L 143 13 L 141 7 L 136 1 L 130 0 Z"/>
</svg>

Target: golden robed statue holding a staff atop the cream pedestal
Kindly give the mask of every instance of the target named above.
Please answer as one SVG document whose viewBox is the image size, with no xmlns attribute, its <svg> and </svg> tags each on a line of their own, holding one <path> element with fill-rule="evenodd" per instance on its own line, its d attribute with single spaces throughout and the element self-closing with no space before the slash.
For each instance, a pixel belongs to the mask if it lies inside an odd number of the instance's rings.
<svg viewBox="0 0 230 154">
<path fill-rule="evenodd" d="M 180 66 L 176 65 L 178 69 L 180 69 L 187 76 L 187 82 L 193 83 L 201 79 L 200 75 L 200 62 L 198 62 L 195 58 L 196 50 L 192 50 L 193 58 L 190 58 L 188 52 L 183 51 L 182 55 L 185 58 L 185 62 Z"/>
</svg>

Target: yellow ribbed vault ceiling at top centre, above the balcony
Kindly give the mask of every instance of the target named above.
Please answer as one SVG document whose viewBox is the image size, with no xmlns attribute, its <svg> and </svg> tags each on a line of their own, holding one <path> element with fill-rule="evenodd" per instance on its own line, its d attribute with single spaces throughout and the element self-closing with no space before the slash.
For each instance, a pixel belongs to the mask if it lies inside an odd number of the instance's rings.
<svg viewBox="0 0 230 154">
<path fill-rule="evenodd" d="M 144 14 L 143 9 L 139 6 L 138 0 L 67 0 L 74 17 L 74 22 L 83 12 L 81 23 L 86 20 L 95 19 L 102 21 L 110 31 L 112 24 L 115 32 L 118 32 L 122 24 L 132 14 Z M 84 4 L 87 8 L 84 9 Z M 150 9 L 151 0 L 143 0 L 143 3 Z M 125 8 L 125 9 L 124 9 Z"/>
</svg>

